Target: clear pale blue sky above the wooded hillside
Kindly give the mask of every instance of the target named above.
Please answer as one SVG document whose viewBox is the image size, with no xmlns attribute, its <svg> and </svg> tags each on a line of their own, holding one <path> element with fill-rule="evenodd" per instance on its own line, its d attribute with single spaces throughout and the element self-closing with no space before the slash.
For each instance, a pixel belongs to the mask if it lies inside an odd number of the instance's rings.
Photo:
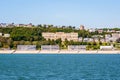
<svg viewBox="0 0 120 80">
<path fill-rule="evenodd" d="M 0 0 L 0 23 L 120 27 L 120 0 Z"/>
</svg>

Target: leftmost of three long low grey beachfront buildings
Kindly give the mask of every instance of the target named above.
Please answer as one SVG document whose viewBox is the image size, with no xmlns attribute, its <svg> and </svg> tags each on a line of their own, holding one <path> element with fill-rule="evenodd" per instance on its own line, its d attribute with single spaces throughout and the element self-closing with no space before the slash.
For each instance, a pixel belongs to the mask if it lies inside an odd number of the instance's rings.
<svg viewBox="0 0 120 80">
<path fill-rule="evenodd" d="M 17 45 L 17 50 L 21 51 L 36 50 L 36 45 Z"/>
</svg>

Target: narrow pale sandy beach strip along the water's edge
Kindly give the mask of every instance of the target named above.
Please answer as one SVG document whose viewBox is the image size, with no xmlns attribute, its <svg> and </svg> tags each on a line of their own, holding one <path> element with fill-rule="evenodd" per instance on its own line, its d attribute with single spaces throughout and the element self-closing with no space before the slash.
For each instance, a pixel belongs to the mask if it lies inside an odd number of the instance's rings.
<svg viewBox="0 0 120 80">
<path fill-rule="evenodd" d="M 18 50 L 0 50 L 0 54 L 120 54 L 120 50 L 111 51 L 101 51 L 101 50 L 91 50 L 91 51 L 69 51 L 69 50 L 56 50 L 56 51 L 18 51 Z"/>
</svg>

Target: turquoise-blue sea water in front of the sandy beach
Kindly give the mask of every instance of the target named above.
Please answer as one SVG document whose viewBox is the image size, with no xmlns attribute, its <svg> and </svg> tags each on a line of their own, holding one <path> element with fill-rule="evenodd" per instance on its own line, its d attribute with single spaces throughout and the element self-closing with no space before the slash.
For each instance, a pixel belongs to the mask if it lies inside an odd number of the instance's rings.
<svg viewBox="0 0 120 80">
<path fill-rule="evenodd" d="M 120 80 L 120 55 L 0 54 L 0 80 Z"/>
</svg>

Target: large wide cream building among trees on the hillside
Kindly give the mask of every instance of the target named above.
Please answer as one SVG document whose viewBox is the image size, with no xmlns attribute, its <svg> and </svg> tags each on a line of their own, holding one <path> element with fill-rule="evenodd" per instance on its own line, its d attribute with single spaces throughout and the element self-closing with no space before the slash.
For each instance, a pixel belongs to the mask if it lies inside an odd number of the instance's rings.
<svg viewBox="0 0 120 80">
<path fill-rule="evenodd" d="M 42 36 L 48 40 L 56 40 L 61 38 L 62 41 L 65 41 L 67 39 L 68 41 L 78 41 L 78 33 L 64 33 L 64 32 L 56 32 L 56 33 L 50 33 L 50 32 L 43 32 Z"/>
</svg>

